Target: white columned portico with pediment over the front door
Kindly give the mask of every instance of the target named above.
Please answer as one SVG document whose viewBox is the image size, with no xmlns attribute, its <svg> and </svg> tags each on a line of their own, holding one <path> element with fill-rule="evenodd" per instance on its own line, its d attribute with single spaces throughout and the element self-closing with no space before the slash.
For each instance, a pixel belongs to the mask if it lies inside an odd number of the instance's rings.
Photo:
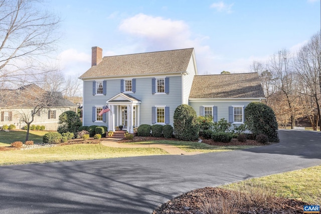
<svg viewBox="0 0 321 214">
<path fill-rule="evenodd" d="M 119 93 L 107 100 L 108 129 L 115 131 L 115 127 L 122 125 L 129 133 L 134 132 L 134 127 L 139 126 L 140 100 L 128 94 Z"/>
</svg>

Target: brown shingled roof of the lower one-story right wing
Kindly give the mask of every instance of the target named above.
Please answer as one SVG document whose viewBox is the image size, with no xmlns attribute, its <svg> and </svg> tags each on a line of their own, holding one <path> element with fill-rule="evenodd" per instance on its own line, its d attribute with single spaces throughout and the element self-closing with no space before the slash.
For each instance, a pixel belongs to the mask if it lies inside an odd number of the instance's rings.
<svg viewBox="0 0 321 214">
<path fill-rule="evenodd" d="M 190 98 L 264 98 L 257 73 L 195 76 Z"/>
</svg>

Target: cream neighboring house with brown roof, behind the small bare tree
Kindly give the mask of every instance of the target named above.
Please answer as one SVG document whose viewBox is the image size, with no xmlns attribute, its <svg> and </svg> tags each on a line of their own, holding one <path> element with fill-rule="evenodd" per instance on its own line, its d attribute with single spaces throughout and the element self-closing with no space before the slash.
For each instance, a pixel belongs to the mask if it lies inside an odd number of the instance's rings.
<svg viewBox="0 0 321 214">
<path fill-rule="evenodd" d="M 31 89 L 31 90 L 30 90 Z M 26 90 L 28 90 L 26 92 Z M 26 123 L 22 121 L 22 117 L 31 118 L 31 111 L 34 110 L 36 102 L 30 100 L 30 103 L 22 101 L 22 96 L 26 98 L 28 93 L 33 93 L 30 99 L 37 97 L 39 91 L 45 92 L 42 88 L 35 84 L 20 87 L 16 90 L 0 90 L 0 127 L 3 125 L 14 124 L 16 128 L 23 128 Z M 45 92 L 49 93 L 49 92 Z M 26 94 L 26 95 L 25 95 Z M 77 113 L 77 105 L 64 99 L 59 92 L 51 93 L 52 102 L 46 103 L 46 108 L 39 111 L 31 125 L 44 125 L 46 130 L 57 130 L 59 116 L 65 111 L 74 111 Z M 29 99 L 25 99 L 29 100 Z"/>
</svg>

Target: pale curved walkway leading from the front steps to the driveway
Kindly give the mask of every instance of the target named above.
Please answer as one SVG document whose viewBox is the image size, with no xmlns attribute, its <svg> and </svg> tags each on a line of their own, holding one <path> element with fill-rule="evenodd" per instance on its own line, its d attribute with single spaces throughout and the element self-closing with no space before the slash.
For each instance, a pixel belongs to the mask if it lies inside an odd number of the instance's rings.
<svg viewBox="0 0 321 214">
<path fill-rule="evenodd" d="M 160 148 L 167 151 L 169 154 L 174 155 L 195 155 L 195 154 L 202 154 L 203 152 L 187 152 L 183 149 L 180 149 L 176 146 L 169 145 L 169 144 L 153 144 L 153 143 L 146 143 L 146 144 L 123 144 L 119 143 L 118 141 L 121 139 L 118 138 L 107 138 L 106 140 L 101 141 L 101 144 L 104 146 L 114 147 L 114 148 Z"/>
</svg>

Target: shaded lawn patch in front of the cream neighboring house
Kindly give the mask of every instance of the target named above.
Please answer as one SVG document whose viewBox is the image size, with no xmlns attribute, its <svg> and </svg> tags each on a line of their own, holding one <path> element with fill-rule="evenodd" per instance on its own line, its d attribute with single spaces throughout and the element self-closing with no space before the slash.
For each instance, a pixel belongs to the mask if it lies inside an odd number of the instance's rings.
<svg viewBox="0 0 321 214">
<path fill-rule="evenodd" d="M 34 143 L 42 143 L 42 136 L 46 134 L 47 131 L 30 131 L 29 140 L 33 140 Z M 9 130 L 0 131 L 0 146 L 10 146 L 11 143 L 15 141 L 25 142 L 27 131 L 25 130 Z"/>
</svg>

